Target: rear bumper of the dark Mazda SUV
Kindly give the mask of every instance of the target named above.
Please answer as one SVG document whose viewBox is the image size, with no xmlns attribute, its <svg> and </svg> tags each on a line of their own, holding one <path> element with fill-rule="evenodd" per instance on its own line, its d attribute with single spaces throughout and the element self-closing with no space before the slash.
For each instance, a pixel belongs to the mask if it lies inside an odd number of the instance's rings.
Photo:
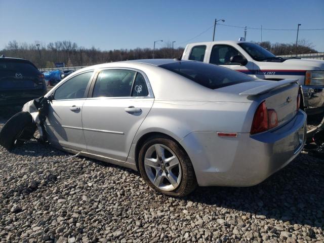
<svg viewBox="0 0 324 243">
<path fill-rule="evenodd" d="M 46 92 L 46 86 L 30 90 L 0 90 L 0 106 L 23 105 L 32 99 L 43 96 Z"/>
</svg>

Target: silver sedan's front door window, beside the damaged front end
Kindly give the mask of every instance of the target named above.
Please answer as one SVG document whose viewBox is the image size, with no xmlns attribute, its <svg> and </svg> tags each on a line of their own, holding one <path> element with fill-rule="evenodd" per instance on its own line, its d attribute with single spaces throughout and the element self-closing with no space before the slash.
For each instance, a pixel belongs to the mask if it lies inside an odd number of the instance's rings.
<svg viewBox="0 0 324 243">
<path fill-rule="evenodd" d="M 85 91 L 92 73 L 93 71 L 85 72 L 68 79 L 55 90 L 54 100 L 85 98 Z"/>
</svg>

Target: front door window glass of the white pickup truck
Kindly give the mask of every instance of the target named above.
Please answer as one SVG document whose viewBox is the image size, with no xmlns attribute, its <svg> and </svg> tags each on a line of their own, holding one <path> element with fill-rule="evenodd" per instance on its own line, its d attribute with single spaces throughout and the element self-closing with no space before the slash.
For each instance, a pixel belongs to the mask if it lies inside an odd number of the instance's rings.
<svg viewBox="0 0 324 243">
<path fill-rule="evenodd" d="M 233 65 L 230 61 L 232 56 L 242 56 L 235 48 L 227 45 L 215 45 L 212 49 L 210 63 L 217 65 Z"/>
</svg>

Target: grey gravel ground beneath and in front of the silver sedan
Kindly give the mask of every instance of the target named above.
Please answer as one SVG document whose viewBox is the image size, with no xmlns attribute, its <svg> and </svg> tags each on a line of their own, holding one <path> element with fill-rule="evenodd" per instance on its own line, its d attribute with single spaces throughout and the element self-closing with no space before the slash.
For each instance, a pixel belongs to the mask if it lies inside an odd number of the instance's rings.
<svg viewBox="0 0 324 243">
<path fill-rule="evenodd" d="M 200 187 L 182 199 L 46 145 L 0 147 L 0 156 L 0 242 L 324 241 L 324 163 L 305 151 L 257 186 Z"/>
</svg>

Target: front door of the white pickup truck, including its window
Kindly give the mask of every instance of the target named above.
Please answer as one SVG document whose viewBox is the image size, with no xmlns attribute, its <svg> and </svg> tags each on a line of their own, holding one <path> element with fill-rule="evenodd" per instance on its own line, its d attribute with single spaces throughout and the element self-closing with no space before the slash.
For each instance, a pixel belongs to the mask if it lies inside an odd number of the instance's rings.
<svg viewBox="0 0 324 243">
<path fill-rule="evenodd" d="M 242 56 L 247 59 L 248 62 L 246 65 L 231 62 L 231 57 L 233 56 Z M 234 47 L 231 47 L 229 45 L 214 45 L 211 51 L 209 63 L 227 67 L 246 74 L 253 74 L 253 61 L 251 61 L 250 58 L 245 57 Z"/>
</svg>

